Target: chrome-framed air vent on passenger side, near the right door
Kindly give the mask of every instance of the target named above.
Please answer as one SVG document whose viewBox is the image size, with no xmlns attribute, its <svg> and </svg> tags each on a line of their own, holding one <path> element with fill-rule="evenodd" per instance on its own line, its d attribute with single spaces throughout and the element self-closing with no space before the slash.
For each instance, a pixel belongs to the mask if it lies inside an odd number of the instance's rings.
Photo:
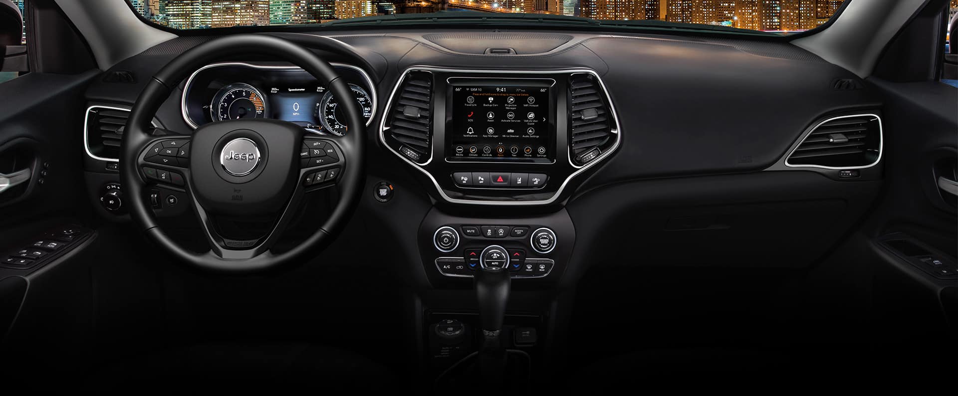
<svg viewBox="0 0 958 396">
<path fill-rule="evenodd" d="M 868 167 L 881 158 L 881 120 L 874 114 L 819 123 L 791 152 L 788 166 Z"/>
</svg>

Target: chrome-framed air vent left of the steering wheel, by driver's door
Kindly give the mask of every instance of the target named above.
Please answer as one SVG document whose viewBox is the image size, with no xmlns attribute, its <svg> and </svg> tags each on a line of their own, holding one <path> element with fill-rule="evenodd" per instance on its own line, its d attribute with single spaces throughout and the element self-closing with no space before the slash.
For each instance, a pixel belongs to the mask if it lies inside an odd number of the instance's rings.
<svg viewBox="0 0 958 396">
<path fill-rule="evenodd" d="M 92 106 L 87 109 L 86 152 L 98 160 L 117 161 L 127 117 L 129 110 L 121 108 Z"/>
</svg>

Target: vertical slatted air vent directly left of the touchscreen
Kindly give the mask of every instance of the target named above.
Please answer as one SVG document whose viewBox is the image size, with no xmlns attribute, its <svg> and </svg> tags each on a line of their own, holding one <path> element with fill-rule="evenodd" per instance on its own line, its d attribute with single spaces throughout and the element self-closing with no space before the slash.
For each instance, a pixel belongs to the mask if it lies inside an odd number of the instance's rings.
<svg viewBox="0 0 958 396">
<path fill-rule="evenodd" d="M 431 158 L 432 75 L 410 72 L 393 100 L 385 125 L 388 136 L 401 155 L 425 164 Z"/>
</svg>

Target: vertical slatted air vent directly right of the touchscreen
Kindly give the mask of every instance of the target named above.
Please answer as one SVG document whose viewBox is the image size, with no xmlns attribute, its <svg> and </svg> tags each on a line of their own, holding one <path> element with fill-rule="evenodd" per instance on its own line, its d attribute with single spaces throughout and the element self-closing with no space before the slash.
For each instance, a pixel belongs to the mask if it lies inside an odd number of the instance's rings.
<svg viewBox="0 0 958 396">
<path fill-rule="evenodd" d="M 595 160 L 615 143 L 615 120 L 604 96 L 593 75 L 569 77 L 569 155 L 577 165 Z"/>
</svg>

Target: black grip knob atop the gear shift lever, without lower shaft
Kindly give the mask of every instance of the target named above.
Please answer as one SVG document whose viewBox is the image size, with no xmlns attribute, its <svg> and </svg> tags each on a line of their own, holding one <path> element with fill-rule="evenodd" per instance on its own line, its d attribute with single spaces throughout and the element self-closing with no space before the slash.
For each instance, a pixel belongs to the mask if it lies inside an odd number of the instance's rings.
<svg viewBox="0 0 958 396">
<path fill-rule="evenodd" d="M 475 275 L 479 320 L 484 332 L 502 330 L 506 318 L 506 301 L 512 278 L 509 276 L 509 253 L 491 245 L 479 255 L 480 270 Z"/>
</svg>

